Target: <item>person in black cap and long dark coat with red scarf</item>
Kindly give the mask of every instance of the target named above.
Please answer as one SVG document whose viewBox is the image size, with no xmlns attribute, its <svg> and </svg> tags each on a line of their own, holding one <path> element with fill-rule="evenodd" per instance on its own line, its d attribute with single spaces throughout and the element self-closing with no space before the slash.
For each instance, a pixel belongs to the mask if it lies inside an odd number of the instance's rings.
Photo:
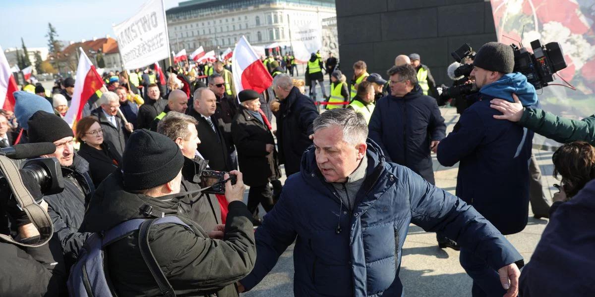
<svg viewBox="0 0 595 297">
<path fill-rule="evenodd" d="M 281 172 L 270 122 L 260 109 L 259 94 L 243 90 L 238 97 L 241 105 L 231 124 L 231 136 L 244 172 L 244 183 L 250 186 L 248 210 L 258 224 L 258 204 L 267 212 L 273 209 L 273 193 L 268 182 L 280 178 Z"/>
</svg>

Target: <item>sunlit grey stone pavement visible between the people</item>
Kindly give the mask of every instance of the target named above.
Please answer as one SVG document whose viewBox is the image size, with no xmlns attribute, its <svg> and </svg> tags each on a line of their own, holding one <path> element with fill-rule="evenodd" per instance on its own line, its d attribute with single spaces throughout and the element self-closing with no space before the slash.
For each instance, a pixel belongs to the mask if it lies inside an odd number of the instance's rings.
<svg viewBox="0 0 595 297">
<path fill-rule="evenodd" d="M 449 133 L 459 116 L 454 108 L 441 108 L 441 112 Z M 552 195 L 557 191 L 553 187 L 556 180 L 552 177 L 552 152 L 534 150 L 533 153 L 543 175 L 541 181 L 544 194 L 551 204 Z M 433 155 L 433 161 L 436 185 L 455 194 L 458 164 L 450 168 L 441 166 L 436 160 L 436 155 Z M 285 176 L 283 181 L 284 178 Z M 247 199 L 246 192 L 245 200 Z M 262 208 L 261 214 L 264 214 Z M 506 236 L 523 255 L 525 263 L 530 260 L 546 224 L 547 219 L 534 219 L 530 210 L 527 227 L 520 233 Z M 403 245 L 399 277 L 406 296 L 471 296 L 471 278 L 459 264 L 459 252 L 449 248 L 438 248 L 436 235 L 424 232 L 415 225 L 409 226 L 408 236 Z M 293 296 L 293 245 L 281 255 L 271 273 L 258 286 L 242 296 Z"/>
</svg>

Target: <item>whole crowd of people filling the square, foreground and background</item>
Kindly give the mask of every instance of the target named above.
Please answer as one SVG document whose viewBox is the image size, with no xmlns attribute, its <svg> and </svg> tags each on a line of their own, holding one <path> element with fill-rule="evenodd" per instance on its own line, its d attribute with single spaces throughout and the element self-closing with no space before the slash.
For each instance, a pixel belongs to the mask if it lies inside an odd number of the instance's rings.
<svg viewBox="0 0 595 297">
<path fill-rule="evenodd" d="M 108 72 L 72 128 L 62 118 L 73 78 L 57 81 L 52 96 L 28 83 L 14 93 L 14 112 L 0 110 L 0 147 L 53 143 L 39 157 L 57 160 L 64 189 L 40 204 L 54 230 L 48 244 L 0 244 L 0 264 L 14 267 L 2 272 L 0 295 L 97 293 L 104 277 L 113 295 L 238 296 L 295 242 L 296 296 L 402 296 L 409 223 L 460 250 L 474 297 L 593 293 L 595 116 L 539 109 L 533 85 L 513 72 L 510 46 L 486 43 L 472 62 L 478 92 L 449 134 L 417 53 L 397 55 L 387 79 L 356 61 L 350 81 L 332 54 L 323 63 L 312 53 L 305 80 L 292 78 L 291 53 L 263 56 L 273 83 L 262 93 L 236 94 L 229 61 Z M 551 206 L 531 189 L 540 187 L 531 182 L 540 179 L 534 133 L 563 143 Z M 456 195 L 436 187 L 433 153 L 441 165 L 459 164 Z M 204 187 L 208 170 L 223 176 Z M 224 194 L 207 191 L 217 185 Z M 1 233 L 34 245 L 37 222 L 1 195 Z M 525 228 L 530 201 L 550 223 L 525 263 L 505 235 Z M 154 223 L 164 217 L 177 221 Z M 98 234 L 138 219 L 99 245 L 105 276 L 80 264 Z"/>
</svg>

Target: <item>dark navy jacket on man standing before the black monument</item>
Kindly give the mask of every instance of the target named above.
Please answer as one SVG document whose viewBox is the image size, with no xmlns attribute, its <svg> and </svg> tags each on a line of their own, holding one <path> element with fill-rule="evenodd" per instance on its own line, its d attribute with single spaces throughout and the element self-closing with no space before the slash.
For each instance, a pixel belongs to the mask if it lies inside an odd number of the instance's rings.
<svg viewBox="0 0 595 297">
<path fill-rule="evenodd" d="M 403 97 L 384 96 L 376 103 L 369 121 L 369 138 L 376 141 L 389 162 L 407 166 L 434 184 L 430 141 L 446 134 L 436 99 L 421 87 Z"/>
</svg>

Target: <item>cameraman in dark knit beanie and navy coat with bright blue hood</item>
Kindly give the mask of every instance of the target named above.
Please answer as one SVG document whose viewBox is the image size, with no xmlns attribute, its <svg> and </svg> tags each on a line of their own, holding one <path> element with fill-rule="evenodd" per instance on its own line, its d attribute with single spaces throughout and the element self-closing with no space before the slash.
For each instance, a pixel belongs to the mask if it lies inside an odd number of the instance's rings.
<svg viewBox="0 0 595 297">
<path fill-rule="evenodd" d="M 443 166 L 459 163 L 456 195 L 471 204 L 504 235 L 527 225 L 529 207 L 529 160 L 533 132 L 512 122 L 493 118 L 496 97 L 513 101 L 517 93 L 525 106 L 538 103 L 535 87 L 514 72 L 511 46 L 490 42 L 475 55 L 471 75 L 480 89 L 477 102 L 461 115 L 453 132 L 438 145 Z M 474 280 L 472 296 L 502 295 L 497 274 L 471 251 L 461 248 L 461 266 Z M 491 296 L 490 295 L 490 296 Z"/>
</svg>

